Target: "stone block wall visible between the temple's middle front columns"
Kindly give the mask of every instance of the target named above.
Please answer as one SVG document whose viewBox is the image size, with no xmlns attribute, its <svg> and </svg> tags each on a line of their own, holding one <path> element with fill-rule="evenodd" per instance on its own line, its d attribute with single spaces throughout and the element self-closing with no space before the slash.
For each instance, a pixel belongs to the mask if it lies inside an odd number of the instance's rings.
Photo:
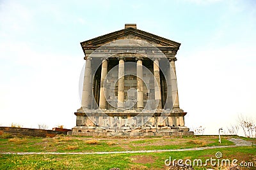
<svg viewBox="0 0 256 170">
<path fill-rule="evenodd" d="M 137 76 L 136 76 L 136 62 L 133 64 L 125 65 L 124 76 L 124 102 L 126 109 L 136 108 L 136 89 L 137 89 Z M 110 68 L 106 77 L 106 101 L 107 109 L 115 110 L 117 108 L 117 95 L 118 95 L 118 66 Z M 154 74 L 152 69 L 143 67 L 143 103 L 146 109 L 155 108 L 155 89 L 154 89 Z"/>
</svg>

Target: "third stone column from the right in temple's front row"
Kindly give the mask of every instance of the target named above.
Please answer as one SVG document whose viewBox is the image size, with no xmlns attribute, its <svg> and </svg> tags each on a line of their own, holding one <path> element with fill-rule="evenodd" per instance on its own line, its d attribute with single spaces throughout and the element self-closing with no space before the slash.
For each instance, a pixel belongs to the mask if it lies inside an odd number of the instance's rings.
<svg viewBox="0 0 256 170">
<path fill-rule="evenodd" d="M 143 107 L 143 66 L 142 58 L 137 59 L 137 108 L 142 110 Z"/>
</svg>

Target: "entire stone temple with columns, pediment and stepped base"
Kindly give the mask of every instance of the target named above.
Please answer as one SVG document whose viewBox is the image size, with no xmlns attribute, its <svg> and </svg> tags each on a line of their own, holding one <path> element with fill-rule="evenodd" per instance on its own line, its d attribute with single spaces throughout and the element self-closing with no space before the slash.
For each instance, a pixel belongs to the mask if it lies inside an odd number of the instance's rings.
<svg viewBox="0 0 256 170">
<path fill-rule="evenodd" d="M 125 24 L 81 46 L 86 62 L 72 134 L 193 135 L 179 106 L 175 56 L 180 43 Z"/>
</svg>

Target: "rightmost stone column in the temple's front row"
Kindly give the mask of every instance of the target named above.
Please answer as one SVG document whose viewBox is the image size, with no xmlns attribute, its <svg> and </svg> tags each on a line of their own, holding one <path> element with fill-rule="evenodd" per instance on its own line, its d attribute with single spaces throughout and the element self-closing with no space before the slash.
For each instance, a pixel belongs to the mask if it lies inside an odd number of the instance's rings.
<svg viewBox="0 0 256 170">
<path fill-rule="evenodd" d="M 170 76 L 171 76 L 171 86 L 172 86 L 172 102 L 173 109 L 179 109 L 179 95 L 178 95 L 178 87 L 177 87 L 177 77 L 176 77 L 176 69 L 175 69 L 175 57 L 169 59 L 170 60 Z"/>
</svg>

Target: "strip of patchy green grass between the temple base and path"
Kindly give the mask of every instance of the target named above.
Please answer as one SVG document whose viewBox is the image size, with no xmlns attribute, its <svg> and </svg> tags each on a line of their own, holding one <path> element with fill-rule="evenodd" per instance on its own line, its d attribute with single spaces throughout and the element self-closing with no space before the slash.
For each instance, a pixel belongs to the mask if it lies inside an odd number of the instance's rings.
<svg viewBox="0 0 256 170">
<path fill-rule="evenodd" d="M 96 138 L 97 145 L 87 144 L 86 141 L 95 138 L 74 136 L 57 136 L 55 138 L 22 138 L 22 145 L 0 138 L 2 152 L 110 152 L 126 150 L 167 150 L 196 148 L 202 146 L 234 145 L 223 137 L 218 143 L 217 136 L 193 136 L 184 138 Z M 200 141 L 203 145 L 189 143 Z M 111 143 L 111 145 L 109 145 Z"/>
</svg>

